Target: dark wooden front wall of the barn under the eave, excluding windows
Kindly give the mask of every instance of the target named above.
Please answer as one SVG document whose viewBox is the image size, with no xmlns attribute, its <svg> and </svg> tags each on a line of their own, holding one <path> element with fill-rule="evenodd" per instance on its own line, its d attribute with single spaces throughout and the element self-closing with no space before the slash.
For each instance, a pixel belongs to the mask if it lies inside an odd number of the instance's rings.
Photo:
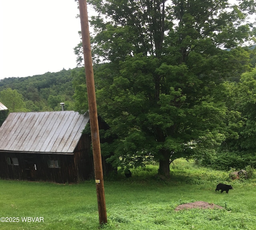
<svg viewBox="0 0 256 230">
<path fill-rule="evenodd" d="M 8 165 L 7 157 L 18 158 L 19 165 Z M 60 168 L 49 168 L 48 160 L 60 162 Z M 35 167 L 36 166 L 36 167 Z M 8 180 L 77 182 L 74 155 L 4 153 L 0 155 L 0 178 Z"/>
</svg>

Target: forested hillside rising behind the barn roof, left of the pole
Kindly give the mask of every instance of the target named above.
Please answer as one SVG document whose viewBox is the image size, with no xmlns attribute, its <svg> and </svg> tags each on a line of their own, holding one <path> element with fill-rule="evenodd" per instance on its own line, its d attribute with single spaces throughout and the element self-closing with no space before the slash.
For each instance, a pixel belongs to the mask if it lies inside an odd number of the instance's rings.
<svg viewBox="0 0 256 230">
<path fill-rule="evenodd" d="M 66 110 L 74 110 L 72 79 L 80 69 L 4 78 L 0 80 L 1 101 L 11 112 L 58 111 L 60 102 L 65 103 Z"/>
</svg>

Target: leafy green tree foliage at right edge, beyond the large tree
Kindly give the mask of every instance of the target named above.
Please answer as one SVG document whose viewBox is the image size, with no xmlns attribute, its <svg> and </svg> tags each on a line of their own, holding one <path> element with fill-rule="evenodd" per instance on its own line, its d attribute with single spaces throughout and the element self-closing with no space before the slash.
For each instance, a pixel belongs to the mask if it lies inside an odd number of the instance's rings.
<svg viewBox="0 0 256 230">
<path fill-rule="evenodd" d="M 222 145 L 223 151 L 238 152 L 238 155 L 252 156 L 248 159 L 251 165 L 255 167 L 255 88 L 256 87 L 256 69 L 243 73 L 238 82 L 228 84 L 229 95 L 227 97 L 227 105 L 230 111 L 230 119 L 228 125 L 230 131 L 236 133 L 227 137 Z M 234 111 L 237 111 L 236 113 Z M 235 116 L 234 116 L 235 115 Z M 254 162 L 253 162 L 254 161 Z M 245 165 L 246 166 L 246 165 Z"/>
</svg>

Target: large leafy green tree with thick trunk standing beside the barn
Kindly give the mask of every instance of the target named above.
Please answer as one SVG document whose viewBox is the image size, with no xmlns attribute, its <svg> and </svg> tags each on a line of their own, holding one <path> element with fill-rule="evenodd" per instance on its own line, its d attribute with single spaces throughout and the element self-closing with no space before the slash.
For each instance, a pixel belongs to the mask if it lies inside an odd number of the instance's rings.
<svg viewBox="0 0 256 230">
<path fill-rule="evenodd" d="M 91 20 L 94 60 L 104 62 L 95 71 L 98 111 L 117 137 L 108 147 L 114 162 L 153 157 L 169 177 L 174 159 L 225 139 L 223 79 L 246 67 L 224 48 L 252 36 L 246 15 L 254 1 L 239 3 L 90 0 L 98 12 Z"/>
</svg>

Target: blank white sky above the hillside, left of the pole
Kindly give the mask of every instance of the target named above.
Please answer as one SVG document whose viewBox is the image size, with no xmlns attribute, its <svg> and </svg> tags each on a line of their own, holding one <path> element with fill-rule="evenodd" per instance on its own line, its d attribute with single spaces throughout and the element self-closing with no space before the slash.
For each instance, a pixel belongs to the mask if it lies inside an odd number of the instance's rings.
<svg viewBox="0 0 256 230">
<path fill-rule="evenodd" d="M 76 67 L 77 14 L 74 0 L 0 0 L 0 79 Z"/>
</svg>

